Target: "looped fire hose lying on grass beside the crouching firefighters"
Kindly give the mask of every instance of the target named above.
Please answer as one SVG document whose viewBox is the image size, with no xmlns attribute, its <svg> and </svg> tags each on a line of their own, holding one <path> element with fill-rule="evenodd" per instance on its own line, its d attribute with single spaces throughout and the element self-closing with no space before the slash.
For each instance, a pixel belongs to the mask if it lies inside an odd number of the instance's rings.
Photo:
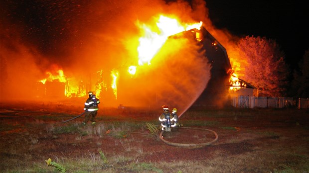
<svg viewBox="0 0 309 173">
<path fill-rule="evenodd" d="M 185 147 L 185 148 L 190 148 L 190 149 L 202 148 L 202 147 L 211 145 L 211 144 L 215 143 L 218 140 L 218 134 L 215 131 L 213 131 L 213 130 L 202 129 L 202 128 L 195 128 L 195 127 L 181 127 L 181 128 L 187 128 L 187 129 L 191 128 L 191 129 L 197 129 L 197 130 L 210 131 L 210 132 L 212 132 L 215 135 L 215 139 L 210 141 L 210 142 L 200 143 L 200 144 L 173 143 L 173 142 L 169 142 L 169 141 L 166 141 L 166 140 L 163 139 L 164 130 L 162 130 L 161 133 L 160 133 L 160 136 L 159 136 L 160 140 L 163 141 L 164 143 L 168 144 L 168 145 L 171 145 L 171 146 Z"/>
</svg>

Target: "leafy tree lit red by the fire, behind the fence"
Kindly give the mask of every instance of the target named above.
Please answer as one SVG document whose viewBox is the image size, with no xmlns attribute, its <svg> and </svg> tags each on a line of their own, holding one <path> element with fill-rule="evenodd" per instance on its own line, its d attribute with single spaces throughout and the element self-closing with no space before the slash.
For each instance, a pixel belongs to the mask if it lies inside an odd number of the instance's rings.
<svg viewBox="0 0 309 173">
<path fill-rule="evenodd" d="M 246 36 L 238 43 L 240 56 L 247 60 L 243 79 L 257 87 L 258 96 L 285 96 L 289 67 L 275 40 Z"/>
</svg>

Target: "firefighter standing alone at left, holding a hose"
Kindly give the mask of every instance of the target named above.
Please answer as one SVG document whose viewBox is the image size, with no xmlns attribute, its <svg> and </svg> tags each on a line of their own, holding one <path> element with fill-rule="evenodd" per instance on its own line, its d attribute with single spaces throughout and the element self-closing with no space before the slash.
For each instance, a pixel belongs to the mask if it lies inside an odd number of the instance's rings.
<svg viewBox="0 0 309 173">
<path fill-rule="evenodd" d="M 99 110 L 98 104 L 100 103 L 100 100 L 96 97 L 95 94 L 93 94 L 92 91 L 88 92 L 88 94 L 89 98 L 85 102 L 84 110 L 86 111 L 86 113 L 82 125 L 86 125 L 90 117 L 91 117 L 91 124 L 95 125 L 96 123 L 95 118 L 98 113 L 97 111 Z"/>
</svg>

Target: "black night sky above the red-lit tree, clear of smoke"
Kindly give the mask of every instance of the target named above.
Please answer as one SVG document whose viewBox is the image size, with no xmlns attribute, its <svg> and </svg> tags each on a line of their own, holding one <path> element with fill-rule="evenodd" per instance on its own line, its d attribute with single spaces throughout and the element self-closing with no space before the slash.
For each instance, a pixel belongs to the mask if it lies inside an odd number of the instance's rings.
<svg viewBox="0 0 309 173">
<path fill-rule="evenodd" d="M 219 29 L 245 37 L 274 39 L 292 69 L 309 49 L 309 10 L 296 0 L 206 0 L 209 18 Z"/>
</svg>

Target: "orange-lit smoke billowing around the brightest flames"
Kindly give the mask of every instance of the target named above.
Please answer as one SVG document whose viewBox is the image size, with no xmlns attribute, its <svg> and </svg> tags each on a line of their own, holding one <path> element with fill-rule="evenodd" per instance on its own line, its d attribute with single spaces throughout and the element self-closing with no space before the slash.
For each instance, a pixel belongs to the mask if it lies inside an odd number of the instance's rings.
<svg viewBox="0 0 309 173">
<path fill-rule="evenodd" d="M 155 99 L 158 105 L 189 106 L 207 85 L 210 69 L 189 39 L 168 40 L 136 77 L 125 73 L 138 61 L 137 22 L 150 23 L 159 14 L 211 24 L 203 0 L 1 1 L 1 101 L 30 98 L 36 82 L 57 66 L 80 79 L 117 69 L 119 97 L 102 95 L 106 105 L 149 106 Z"/>
</svg>

